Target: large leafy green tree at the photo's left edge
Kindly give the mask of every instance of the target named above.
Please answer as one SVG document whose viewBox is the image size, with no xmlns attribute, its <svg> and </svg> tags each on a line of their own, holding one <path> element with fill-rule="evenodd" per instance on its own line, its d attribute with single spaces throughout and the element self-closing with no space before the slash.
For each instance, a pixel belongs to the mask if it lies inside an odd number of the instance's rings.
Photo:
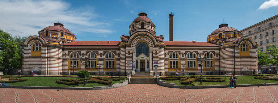
<svg viewBox="0 0 278 103">
<path fill-rule="evenodd" d="M 11 34 L 0 29 L 0 71 L 11 71 L 11 68 L 22 66 L 22 56 L 18 51 L 18 45 Z"/>
</svg>

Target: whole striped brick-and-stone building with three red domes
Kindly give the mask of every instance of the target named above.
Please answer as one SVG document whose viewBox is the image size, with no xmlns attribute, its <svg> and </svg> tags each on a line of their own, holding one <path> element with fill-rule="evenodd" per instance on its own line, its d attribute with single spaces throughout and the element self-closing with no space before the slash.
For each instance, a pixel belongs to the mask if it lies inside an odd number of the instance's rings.
<svg viewBox="0 0 278 103">
<path fill-rule="evenodd" d="M 122 35 L 121 41 L 76 41 L 75 35 L 62 24 L 50 27 L 23 42 L 23 74 L 30 71 L 40 75 L 73 74 L 85 69 L 80 57 L 90 58 L 86 70 L 93 75 L 125 76 L 128 71 L 173 75 L 183 69 L 186 75 L 197 75 L 201 69 L 196 61 L 199 56 L 207 57 L 202 65 L 203 74 L 210 71 L 223 74 L 225 70 L 244 74 L 257 70 L 258 45 L 228 24 L 219 25 L 207 42 L 163 41 L 162 35 L 156 36 L 156 26 L 143 12 L 129 25 L 128 35 Z M 158 65 L 157 70 L 154 65 Z"/>
</svg>

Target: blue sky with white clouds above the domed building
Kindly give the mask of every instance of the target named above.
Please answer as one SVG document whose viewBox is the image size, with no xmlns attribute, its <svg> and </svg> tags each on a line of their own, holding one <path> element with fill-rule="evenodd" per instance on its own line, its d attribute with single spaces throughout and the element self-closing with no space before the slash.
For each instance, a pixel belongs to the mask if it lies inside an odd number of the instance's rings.
<svg viewBox="0 0 278 103">
<path fill-rule="evenodd" d="M 128 26 L 144 12 L 156 25 L 156 35 L 168 41 L 168 14 L 174 13 L 174 41 L 206 41 L 228 23 L 241 30 L 278 14 L 278 0 L 72 0 L 0 1 L 0 29 L 13 36 L 38 35 L 60 19 L 77 41 L 120 41 Z"/>
</svg>

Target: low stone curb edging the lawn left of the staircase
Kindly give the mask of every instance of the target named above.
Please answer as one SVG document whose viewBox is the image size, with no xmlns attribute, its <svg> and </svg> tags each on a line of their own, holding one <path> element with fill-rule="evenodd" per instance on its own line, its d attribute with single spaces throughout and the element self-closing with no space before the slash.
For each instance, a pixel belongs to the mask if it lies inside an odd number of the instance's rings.
<svg viewBox="0 0 278 103">
<path fill-rule="evenodd" d="M 20 89 L 61 89 L 61 90 L 101 90 L 117 88 L 128 85 L 128 81 L 121 81 L 121 83 L 110 84 L 110 86 L 95 86 L 95 87 L 48 87 L 48 86 L 0 86 L 0 88 L 20 88 Z"/>
</svg>

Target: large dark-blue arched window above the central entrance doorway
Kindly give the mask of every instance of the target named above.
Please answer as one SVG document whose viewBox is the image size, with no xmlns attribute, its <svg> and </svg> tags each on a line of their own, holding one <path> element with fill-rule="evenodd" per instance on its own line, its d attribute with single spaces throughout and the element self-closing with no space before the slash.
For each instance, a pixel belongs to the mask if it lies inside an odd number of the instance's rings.
<svg viewBox="0 0 278 103">
<path fill-rule="evenodd" d="M 145 42 L 140 42 L 136 46 L 136 57 L 138 57 L 142 53 L 149 57 L 149 46 Z"/>
</svg>

